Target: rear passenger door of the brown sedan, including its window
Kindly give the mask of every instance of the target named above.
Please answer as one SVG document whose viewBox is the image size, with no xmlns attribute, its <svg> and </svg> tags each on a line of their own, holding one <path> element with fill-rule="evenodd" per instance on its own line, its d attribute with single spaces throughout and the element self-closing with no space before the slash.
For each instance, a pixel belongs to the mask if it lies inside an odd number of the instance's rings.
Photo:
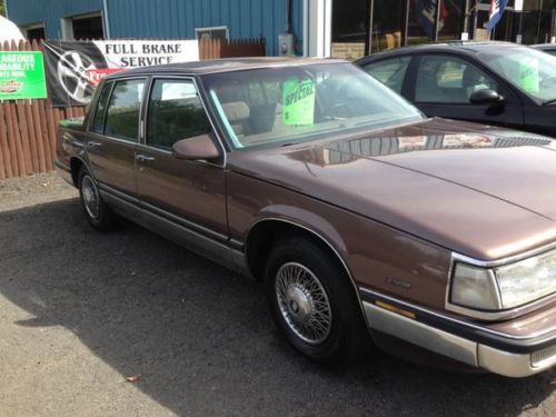
<svg viewBox="0 0 556 417">
<path fill-rule="evenodd" d="M 102 188 L 137 196 L 136 147 L 146 78 L 103 85 L 89 125 L 87 153 L 91 173 Z"/>
</svg>

